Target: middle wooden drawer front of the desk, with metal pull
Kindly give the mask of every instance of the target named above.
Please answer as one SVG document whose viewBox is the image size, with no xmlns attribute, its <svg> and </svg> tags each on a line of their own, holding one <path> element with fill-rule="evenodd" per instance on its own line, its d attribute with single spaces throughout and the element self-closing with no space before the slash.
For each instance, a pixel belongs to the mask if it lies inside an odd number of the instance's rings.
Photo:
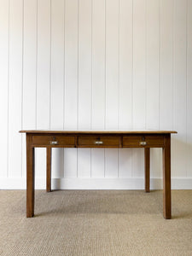
<svg viewBox="0 0 192 256">
<path fill-rule="evenodd" d="M 80 148 L 119 148 L 119 137 L 79 136 Z"/>
</svg>

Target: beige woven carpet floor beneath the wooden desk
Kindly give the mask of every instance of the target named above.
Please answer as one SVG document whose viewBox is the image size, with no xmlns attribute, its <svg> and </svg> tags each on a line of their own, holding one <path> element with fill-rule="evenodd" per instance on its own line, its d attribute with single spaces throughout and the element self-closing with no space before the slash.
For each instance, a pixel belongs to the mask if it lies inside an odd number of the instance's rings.
<svg viewBox="0 0 192 256">
<path fill-rule="evenodd" d="M 172 191 L 172 219 L 162 191 L 0 191 L 0 255 L 192 255 L 192 190 Z"/>
</svg>

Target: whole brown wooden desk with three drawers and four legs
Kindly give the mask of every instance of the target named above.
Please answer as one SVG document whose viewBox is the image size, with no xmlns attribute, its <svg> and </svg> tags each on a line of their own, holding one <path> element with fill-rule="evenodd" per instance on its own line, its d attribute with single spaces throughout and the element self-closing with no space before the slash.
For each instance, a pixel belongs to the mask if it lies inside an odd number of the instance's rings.
<svg viewBox="0 0 192 256">
<path fill-rule="evenodd" d="M 172 218 L 171 133 L 177 131 L 20 131 L 26 133 L 26 217 L 34 216 L 34 148 L 47 148 L 47 191 L 51 191 L 51 148 L 144 148 L 149 192 L 150 148 L 163 148 L 163 216 Z"/>
</svg>

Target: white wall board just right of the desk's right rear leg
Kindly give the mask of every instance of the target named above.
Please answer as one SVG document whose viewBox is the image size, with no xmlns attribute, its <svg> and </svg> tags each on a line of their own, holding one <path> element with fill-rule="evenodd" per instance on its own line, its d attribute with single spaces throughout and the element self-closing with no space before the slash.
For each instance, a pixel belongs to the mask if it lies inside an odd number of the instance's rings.
<svg viewBox="0 0 192 256">
<path fill-rule="evenodd" d="M 146 128 L 160 127 L 160 1 L 147 0 L 146 6 Z M 162 177 L 160 148 L 151 148 L 151 177 Z"/>
</svg>

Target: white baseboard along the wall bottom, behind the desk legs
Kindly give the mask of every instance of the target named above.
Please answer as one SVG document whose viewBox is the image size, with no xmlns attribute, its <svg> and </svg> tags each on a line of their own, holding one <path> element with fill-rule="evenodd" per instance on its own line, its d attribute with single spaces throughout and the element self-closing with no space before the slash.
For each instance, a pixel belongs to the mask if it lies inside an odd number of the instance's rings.
<svg viewBox="0 0 192 256">
<path fill-rule="evenodd" d="M 45 189 L 45 178 L 36 178 L 35 189 Z M 162 189 L 162 178 L 151 178 L 150 189 Z M 0 177 L 0 189 L 26 189 L 25 177 Z M 143 177 L 52 178 L 52 189 L 144 189 Z M 192 177 L 172 178 L 172 189 L 192 189 Z"/>
</svg>

